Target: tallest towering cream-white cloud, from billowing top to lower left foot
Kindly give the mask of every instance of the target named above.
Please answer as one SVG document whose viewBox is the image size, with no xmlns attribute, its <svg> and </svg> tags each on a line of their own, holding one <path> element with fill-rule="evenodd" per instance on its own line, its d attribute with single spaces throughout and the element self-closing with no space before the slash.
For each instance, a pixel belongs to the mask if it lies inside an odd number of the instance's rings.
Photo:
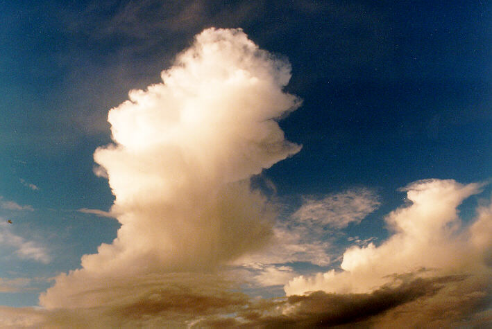
<svg viewBox="0 0 492 329">
<path fill-rule="evenodd" d="M 94 153 L 117 238 L 58 276 L 41 305 L 77 307 L 85 283 L 208 271 L 262 247 L 275 209 L 249 178 L 300 150 L 275 121 L 300 105 L 282 91 L 290 71 L 241 29 L 209 28 L 161 83 L 130 91 L 108 115 L 114 144 Z"/>
</svg>

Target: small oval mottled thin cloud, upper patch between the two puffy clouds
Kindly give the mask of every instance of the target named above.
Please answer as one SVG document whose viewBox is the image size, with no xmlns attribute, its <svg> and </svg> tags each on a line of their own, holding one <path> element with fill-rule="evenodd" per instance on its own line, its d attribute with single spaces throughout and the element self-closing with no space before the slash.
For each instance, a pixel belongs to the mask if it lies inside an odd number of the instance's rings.
<svg viewBox="0 0 492 329">
<path fill-rule="evenodd" d="M 294 217 L 314 225 L 343 229 L 351 222 L 358 224 L 379 205 L 378 195 L 359 188 L 328 195 L 323 199 L 306 198 Z"/>
</svg>

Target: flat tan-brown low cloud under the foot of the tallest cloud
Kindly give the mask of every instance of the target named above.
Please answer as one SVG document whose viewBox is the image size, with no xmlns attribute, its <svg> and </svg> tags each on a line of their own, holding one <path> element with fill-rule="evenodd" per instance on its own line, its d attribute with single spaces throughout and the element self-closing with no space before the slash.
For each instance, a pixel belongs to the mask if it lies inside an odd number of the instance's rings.
<svg viewBox="0 0 492 329">
<path fill-rule="evenodd" d="M 0 308 L 0 328 L 180 328 L 239 312 L 249 301 L 214 274 L 153 274 L 87 285 L 91 289 L 72 296 L 66 307 Z"/>
</svg>

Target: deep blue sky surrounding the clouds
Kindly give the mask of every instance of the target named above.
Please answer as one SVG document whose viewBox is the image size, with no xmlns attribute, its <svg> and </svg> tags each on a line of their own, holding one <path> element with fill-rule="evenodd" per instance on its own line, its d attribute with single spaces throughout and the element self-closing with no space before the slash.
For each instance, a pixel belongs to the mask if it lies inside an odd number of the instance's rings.
<svg viewBox="0 0 492 329">
<path fill-rule="evenodd" d="M 210 26 L 241 27 L 292 65 L 287 91 L 303 105 L 280 125 L 303 150 L 264 172 L 281 198 L 373 188 L 381 219 L 412 181 L 492 177 L 489 2 L 161 2 L 0 2 L 0 195 L 34 209 L 0 215 L 55 255 L 40 264 L 0 253 L 0 278 L 67 272 L 115 237 L 114 220 L 76 212 L 112 204 L 92 172 L 94 150 L 110 142 L 108 110 L 159 82 Z M 386 234 L 371 223 L 354 232 Z M 34 305 L 47 286 L 0 292 L 0 304 Z"/>
</svg>

